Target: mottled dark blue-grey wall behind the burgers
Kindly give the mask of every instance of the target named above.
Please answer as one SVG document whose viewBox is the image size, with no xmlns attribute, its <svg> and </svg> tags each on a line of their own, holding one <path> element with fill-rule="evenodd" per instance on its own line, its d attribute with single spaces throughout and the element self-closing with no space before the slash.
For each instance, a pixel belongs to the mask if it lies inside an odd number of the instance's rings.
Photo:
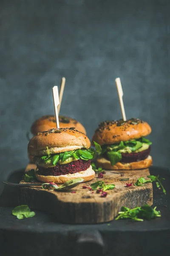
<svg viewBox="0 0 170 256">
<path fill-rule="evenodd" d="M 54 113 L 62 76 L 60 113 L 90 138 L 99 122 L 121 118 L 120 77 L 127 118 L 149 122 L 153 163 L 168 167 L 169 13 L 166 0 L 1 0 L 0 180 L 28 163 L 26 132 Z"/>
</svg>

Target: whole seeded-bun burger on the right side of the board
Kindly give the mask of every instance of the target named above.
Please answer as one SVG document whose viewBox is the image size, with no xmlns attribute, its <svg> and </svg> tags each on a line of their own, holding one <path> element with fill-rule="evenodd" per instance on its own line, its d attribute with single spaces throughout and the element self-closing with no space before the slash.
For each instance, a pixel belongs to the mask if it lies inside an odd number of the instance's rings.
<svg viewBox="0 0 170 256">
<path fill-rule="evenodd" d="M 92 139 L 102 148 L 96 165 L 106 170 L 148 168 L 152 165 L 152 143 L 144 136 L 150 133 L 150 125 L 141 119 L 100 123 Z"/>
</svg>

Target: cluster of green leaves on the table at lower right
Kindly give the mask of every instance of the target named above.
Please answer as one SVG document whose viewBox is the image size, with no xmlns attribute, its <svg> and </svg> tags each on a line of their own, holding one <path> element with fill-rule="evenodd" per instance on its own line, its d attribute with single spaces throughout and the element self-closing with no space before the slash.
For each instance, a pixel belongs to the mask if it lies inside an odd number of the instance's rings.
<svg viewBox="0 0 170 256">
<path fill-rule="evenodd" d="M 121 212 L 115 220 L 119 219 L 132 219 L 134 221 L 144 221 L 144 219 L 151 220 L 155 217 L 161 217 L 160 211 L 156 211 L 156 207 L 153 209 L 149 205 L 145 204 L 142 207 L 136 207 L 133 209 L 122 207 Z"/>
</svg>

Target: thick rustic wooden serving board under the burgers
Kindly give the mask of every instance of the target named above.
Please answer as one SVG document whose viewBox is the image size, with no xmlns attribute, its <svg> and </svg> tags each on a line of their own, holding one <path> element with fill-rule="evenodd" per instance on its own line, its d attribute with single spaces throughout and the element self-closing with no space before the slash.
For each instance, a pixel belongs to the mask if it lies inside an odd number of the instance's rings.
<svg viewBox="0 0 170 256">
<path fill-rule="evenodd" d="M 28 164 L 26 172 L 35 169 L 34 164 Z M 124 176 L 121 176 L 121 173 Z M 96 177 L 87 183 L 67 191 L 57 192 L 40 187 L 22 187 L 18 193 L 19 204 L 27 204 L 31 209 L 39 209 L 55 215 L 56 221 L 70 224 L 94 224 L 113 220 L 122 206 L 134 208 L 144 204 L 153 204 L 152 183 L 144 186 L 126 187 L 126 183 L 134 183 L 139 177 L 150 175 L 149 169 L 136 171 L 106 171 L 104 177 Z M 128 181 L 119 181 L 129 178 Z M 82 189 L 98 180 L 108 184 L 115 184 L 115 189 L 107 190 L 105 198 L 96 191 Z M 21 180 L 20 183 L 26 183 Z M 76 193 L 71 193 L 76 191 Z"/>
</svg>

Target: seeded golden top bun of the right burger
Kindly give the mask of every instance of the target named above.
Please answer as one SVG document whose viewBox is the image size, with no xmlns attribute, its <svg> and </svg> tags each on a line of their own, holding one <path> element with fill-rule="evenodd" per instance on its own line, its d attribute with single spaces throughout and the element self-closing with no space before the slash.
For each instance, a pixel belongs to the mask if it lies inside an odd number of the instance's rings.
<svg viewBox="0 0 170 256">
<path fill-rule="evenodd" d="M 150 133 L 150 125 L 140 119 L 105 121 L 99 124 L 92 141 L 99 145 L 117 144 L 121 141 L 139 139 Z"/>
</svg>

